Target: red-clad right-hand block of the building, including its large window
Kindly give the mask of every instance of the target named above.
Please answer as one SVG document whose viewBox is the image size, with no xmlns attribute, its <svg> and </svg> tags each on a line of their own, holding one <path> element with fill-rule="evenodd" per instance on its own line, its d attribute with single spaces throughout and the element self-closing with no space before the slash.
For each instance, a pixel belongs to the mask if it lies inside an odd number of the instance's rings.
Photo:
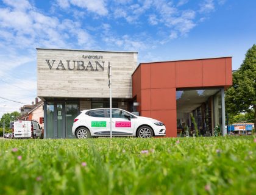
<svg viewBox="0 0 256 195">
<path fill-rule="evenodd" d="M 199 134 L 213 135 L 217 125 L 226 133 L 224 90 L 232 85 L 231 57 L 140 63 L 132 83 L 138 112 L 162 121 L 167 137 L 177 137 L 185 126 L 195 133 L 191 114 Z"/>
</svg>

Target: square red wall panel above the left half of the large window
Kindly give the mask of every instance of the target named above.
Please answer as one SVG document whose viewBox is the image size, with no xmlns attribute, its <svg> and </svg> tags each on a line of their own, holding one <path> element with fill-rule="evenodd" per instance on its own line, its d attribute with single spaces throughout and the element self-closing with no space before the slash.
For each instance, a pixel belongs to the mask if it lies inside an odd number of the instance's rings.
<svg viewBox="0 0 256 195">
<path fill-rule="evenodd" d="M 202 87 L 202 60 L 176 62 L 176 87 Z"/>
</svg>

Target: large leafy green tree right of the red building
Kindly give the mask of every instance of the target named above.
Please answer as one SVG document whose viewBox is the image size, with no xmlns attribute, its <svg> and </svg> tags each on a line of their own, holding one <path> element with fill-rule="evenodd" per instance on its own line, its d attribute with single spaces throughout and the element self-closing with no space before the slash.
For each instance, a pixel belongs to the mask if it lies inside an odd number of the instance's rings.
<svg viewBox="0 0 256 195">
<path fill-rule="evenodd" d="M 256 45 L 250 48 L 238 71 L 233 73 L 233 86 L 226 91 L 226 110 L 229 115 L 254 115 L 256 127 Z"/>
</svg>

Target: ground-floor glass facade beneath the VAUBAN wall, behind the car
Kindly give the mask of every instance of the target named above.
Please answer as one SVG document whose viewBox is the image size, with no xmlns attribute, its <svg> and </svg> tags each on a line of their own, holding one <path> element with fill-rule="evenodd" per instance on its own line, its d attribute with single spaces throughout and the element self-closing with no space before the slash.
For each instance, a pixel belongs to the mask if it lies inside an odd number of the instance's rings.
<svg viewBox="0 0 256 195">
<path fill-rule="evenodd" d="M 109 107 L 108 99 L 99 99 L 90 100 L 88 104 L 85 104 L 85 108 L 82 107 L 82 110 L 94 109 L 94 108 L 105 108 Z M 113 108 L 127 108 L 132 105 L 126 99 L 126 102 L 122 100 L 113 99 L 112 100 Z M 59 99 L 59 100 L 48 100 L 44 103 L 46 105 L 46 110 L 44 110 L 44 135 L 45 138 L 75 138 L 72 135 L 72 126 L 74 119 L 80 113 L 80 100 L 77 101 L 68 100 L 68 99 Z M 129 109 L 128 109 L 129 110 Z"/>
</svg>

